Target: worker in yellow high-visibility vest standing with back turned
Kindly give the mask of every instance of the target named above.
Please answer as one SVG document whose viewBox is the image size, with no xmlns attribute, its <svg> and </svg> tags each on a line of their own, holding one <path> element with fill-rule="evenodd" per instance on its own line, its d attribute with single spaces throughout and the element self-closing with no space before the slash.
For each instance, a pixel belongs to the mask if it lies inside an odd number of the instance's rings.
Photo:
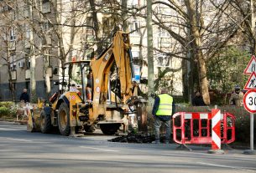
<svg viewBox="0 0 256 173">
<path fill-rule="evenodd" d="M 168 94 L 167 89 L 162 89 L 161 94 L 159 94 L 154 99 L 154 106 L 152 110 L 152 114 L 154 116 L 154 135 L 155 140 L 153 143 L 160 143 L 160 126 L 162 122 L 165 123 L 166 126 L 166 134 L 165 134 L 165 144 L 169 144 L 170 142 L 170 118 L 171 115 L 175 113 L 175 102 L 172 96 Z"/>
</svg>

